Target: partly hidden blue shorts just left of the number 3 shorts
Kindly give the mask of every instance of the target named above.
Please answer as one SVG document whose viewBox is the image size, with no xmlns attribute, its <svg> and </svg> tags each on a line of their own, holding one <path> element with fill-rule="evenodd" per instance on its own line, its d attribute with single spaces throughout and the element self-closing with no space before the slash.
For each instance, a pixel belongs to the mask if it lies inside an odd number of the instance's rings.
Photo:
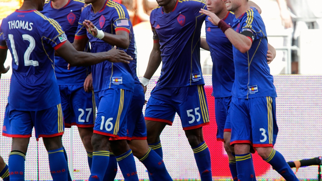
<svg viewBox="0 0 322 181">
<path fill-rule="evenodd" d="M 217 123 L 217 141 L 225 141 L 223 132 L 231 132 L 229 104 L 232 96 L 215 98 L 215 117 Z"/>
</svg>

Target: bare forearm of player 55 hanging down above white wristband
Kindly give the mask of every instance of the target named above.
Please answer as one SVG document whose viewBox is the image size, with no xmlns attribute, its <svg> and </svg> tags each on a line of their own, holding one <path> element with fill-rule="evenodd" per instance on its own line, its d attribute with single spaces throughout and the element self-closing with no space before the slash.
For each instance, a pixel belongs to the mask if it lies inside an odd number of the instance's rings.
<svg viewBox="0 0 322 181">
<path fill-rule="evenodd" d="M 152 50 L 149 58 L 149 62 L 147 64 L 147 70 L 143 77 L 147 79 L 151 79 L 153 74 L 159 68 L 161 64 L 161 51 Z"/>
</svg>

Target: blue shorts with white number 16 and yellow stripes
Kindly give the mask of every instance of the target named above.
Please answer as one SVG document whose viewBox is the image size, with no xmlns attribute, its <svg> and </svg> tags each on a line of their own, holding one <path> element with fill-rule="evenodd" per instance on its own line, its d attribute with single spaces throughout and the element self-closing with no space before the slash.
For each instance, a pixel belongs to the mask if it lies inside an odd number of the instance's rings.
<svg viewBox="0 0 322 181">
<path fill-rule="evenodd" d="M 127 113 L 132 100 L 132 91 L 106 89 L 95 92 L 97 119 L 94 133 L 126 139 Z"/>
</svg>

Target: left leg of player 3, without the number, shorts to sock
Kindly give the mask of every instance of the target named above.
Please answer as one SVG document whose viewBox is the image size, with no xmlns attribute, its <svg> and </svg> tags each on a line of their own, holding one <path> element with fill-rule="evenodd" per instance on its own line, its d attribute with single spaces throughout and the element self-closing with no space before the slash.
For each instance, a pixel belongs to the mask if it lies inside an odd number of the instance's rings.
<svg viewBox="0 0 322 181">
<path fill-rule="evenodd" d="M 238 179 L 251 181 L 255 177 L 254 165 L 250 153 L 251 121 L 246 99 L 232 97 L 230 104 L 231 140 L 234 145 Z M 228 139 L 227 139 L 228 141 Z"/>
</svg>

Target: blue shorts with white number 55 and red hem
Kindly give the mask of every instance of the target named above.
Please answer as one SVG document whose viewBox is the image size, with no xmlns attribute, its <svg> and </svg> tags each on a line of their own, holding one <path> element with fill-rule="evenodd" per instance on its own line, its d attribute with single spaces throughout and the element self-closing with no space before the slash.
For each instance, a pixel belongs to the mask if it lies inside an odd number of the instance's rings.
<svg viewBox="0 0 322 181">
<path fill-rule="evenodd" d="M 181 118 L 183 130 L 208 125 L 209 113 L 204 86 L 154 87 L 147 102 L 145 120 L 172 125 L 175 113 Z"/>
</svg>

